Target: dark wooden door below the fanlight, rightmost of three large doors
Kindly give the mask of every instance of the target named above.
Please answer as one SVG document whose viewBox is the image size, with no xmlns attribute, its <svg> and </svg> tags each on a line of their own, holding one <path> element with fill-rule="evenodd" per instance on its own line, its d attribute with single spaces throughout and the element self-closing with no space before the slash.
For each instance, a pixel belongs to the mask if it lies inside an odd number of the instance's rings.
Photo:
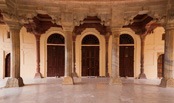
<svg viewBox="0 0 174 103">
<path fill-rule="evenodd" d="M 120 46 L 119 73 L 121 77 L 134 76 L 134 46 Z"/>
</svg>

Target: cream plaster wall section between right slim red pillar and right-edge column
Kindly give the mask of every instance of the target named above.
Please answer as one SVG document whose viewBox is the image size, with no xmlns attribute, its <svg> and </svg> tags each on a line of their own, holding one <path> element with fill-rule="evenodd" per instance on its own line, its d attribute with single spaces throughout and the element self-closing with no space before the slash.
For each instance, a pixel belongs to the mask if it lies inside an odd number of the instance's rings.
<svg viewBox="0 0 174 103">
<path fill-rule="evenodd" d="M 158 27 L 152 34 L 147 35 L 145 40 L 144 70 L 147 78 L 157 78 L 157 59 L 164 54 L 164 29 Z"/>
</svg>

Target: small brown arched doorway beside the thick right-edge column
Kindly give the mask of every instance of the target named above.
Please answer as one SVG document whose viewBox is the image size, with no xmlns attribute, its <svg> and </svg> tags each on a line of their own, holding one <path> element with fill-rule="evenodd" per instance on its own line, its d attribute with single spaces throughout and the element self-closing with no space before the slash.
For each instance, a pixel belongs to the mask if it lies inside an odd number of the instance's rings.
<svg viewBox="0 0 174 103">
<path fill-rule="evenodd" d="M 164 54 L 158 57 L 158 78 L 164 77 Z"/>
</svg>

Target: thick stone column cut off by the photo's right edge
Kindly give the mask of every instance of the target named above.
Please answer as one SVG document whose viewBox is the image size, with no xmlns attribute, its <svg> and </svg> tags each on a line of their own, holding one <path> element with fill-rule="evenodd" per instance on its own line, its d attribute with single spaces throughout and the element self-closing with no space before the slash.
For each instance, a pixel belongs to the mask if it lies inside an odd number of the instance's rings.
<svg viewBox="0 0 174 103">
<path fill-rule="evenodd" d="M 167 16 L 165 22 L 165 50 L 164 50 L 164 78 L 161 87 L 174 88 L 174 1 L 167 4 Z"/>
</svg>

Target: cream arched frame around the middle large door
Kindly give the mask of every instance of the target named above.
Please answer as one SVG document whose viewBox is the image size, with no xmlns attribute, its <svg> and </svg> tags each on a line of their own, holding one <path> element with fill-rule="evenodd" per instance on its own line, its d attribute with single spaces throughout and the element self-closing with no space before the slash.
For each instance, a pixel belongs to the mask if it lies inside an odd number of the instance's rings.
<svg viewBox="0 0 174 103">
<path fill-rule="evenodd" d="M 106 70 L 106 47 L 105 47 L 105 38 L 103 35 L 101 35 L 95 28 L 86 28 L 81 35 L 77 35 L 76 41 L 75 41 L 75 53 L 76 53 L 76 73 L 79 77 L 82 76 L 82 40 L 86 35 L 94 35 L 99 40 L 99 76 L 105 76 L 105 70 Z"/>
</svg>

